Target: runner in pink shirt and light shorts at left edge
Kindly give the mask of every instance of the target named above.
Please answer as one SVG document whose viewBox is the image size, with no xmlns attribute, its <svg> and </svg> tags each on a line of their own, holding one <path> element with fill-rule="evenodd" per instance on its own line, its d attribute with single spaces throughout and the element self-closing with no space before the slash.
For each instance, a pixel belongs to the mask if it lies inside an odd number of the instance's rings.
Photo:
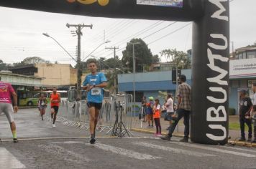
<svg viewBox="0 0 256 169">
<path fill-rule="evenodd" d="M 12 130 L 14 143 L 17 143 L 16 125 L 13 117 L 13 113 L 18 112 L 17 94 L 14 91 L 12 84 L 0 81 L 0 113 L 1 112 L 4 112 L 6 115 Z"/>
</svg>

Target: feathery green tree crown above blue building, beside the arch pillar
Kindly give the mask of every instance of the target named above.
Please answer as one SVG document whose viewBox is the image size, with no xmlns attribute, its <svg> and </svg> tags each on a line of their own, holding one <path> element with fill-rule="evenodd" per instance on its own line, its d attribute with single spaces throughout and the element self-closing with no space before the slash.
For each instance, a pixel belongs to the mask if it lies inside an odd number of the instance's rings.
<svg viewBox="0 0 256 169">
<path fill-rule="evenodd" d="M 188 59 L 188 54 L 183 51 L 178 51 L 176 49 L 165 49 L 160 52 L 161 57 L 165 57 L 168 62 L 172 63 L 173 66 L 178 66 L 178 68 L 189 69 L 191 68 L 191 61 Z"/>
</svg>

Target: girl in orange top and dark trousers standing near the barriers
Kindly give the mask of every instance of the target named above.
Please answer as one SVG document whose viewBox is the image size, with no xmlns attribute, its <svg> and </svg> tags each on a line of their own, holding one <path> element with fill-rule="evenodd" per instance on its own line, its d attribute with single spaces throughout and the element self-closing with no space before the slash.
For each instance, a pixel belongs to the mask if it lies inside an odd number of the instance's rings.
<svg viewBox="0 0 256 169">
<path fill-rule="evenodd" d="M 160 124 L 160 113 L 161 112 L 161 105 L 159 103 L 158 99 L 155 99 L 155 105 L 153 107 L 153 118 L 155 121 L 155 128 L 156 128 L 156 132 L 155 132 L 155 136 L 161 136 L 161 124 Z"/>
</svg>

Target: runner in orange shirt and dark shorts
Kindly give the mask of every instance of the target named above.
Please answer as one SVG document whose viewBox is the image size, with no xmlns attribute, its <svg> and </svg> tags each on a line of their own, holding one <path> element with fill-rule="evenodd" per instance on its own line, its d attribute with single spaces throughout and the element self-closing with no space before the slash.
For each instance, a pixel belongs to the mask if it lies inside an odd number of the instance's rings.
<svg viewBox="0 0 256 169">
<path fill-rule="evenodd" d="M 52 94 L 50 95 L 50 108 L 51 108 L 50 112 L 51 112 L 51 118 L 53 118 L 52 127 L 56 127 L 55 121 L 58 114 L 59 105 L 60 105 L 60 94 L 57 93 L 56 87 L 53 87 Z"/>
</svg>

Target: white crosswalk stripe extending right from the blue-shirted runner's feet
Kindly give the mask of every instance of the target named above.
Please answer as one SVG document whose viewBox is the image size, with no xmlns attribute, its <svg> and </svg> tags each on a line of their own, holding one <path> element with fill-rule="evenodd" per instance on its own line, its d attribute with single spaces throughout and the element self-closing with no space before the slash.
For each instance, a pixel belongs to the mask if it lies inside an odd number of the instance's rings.
<svg viewBox="0 0 256 169">
<path fill-rule="evenodd" d="M 86 144 L 86 145 L 89 145 L 89 144 Z M 105 151 L 110 151 L 111 153 L 124 155 L 124 156 L 127 156 L 129 158 L 135 158 L 135 159 L 138 159 L 138 160 L 154 160 L 154 159 L 159 159 L 160 158 L 160 157 L 156 157 L 156 156 L 153 156 L 153 155 L 138 153 L 136 151 L 127 150 L 127 149 L 124 149 L 124 148 L 116 148 L 114 146 L 105 145 L 105 144 L 101 144 L 101 143 L 97 143 L 97 144 L 93 145 L 93 147 L 99 148 L 99 149 L 105 150 Z"/>
</svg>

